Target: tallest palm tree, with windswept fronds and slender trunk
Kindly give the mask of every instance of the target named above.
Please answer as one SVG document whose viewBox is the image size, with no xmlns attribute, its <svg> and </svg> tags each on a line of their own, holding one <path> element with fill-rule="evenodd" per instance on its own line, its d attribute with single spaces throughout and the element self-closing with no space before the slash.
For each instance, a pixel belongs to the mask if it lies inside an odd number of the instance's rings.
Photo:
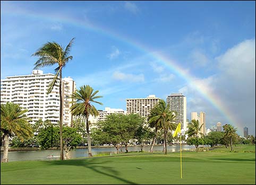
<svg viewBox="0 0 256 185">
<path fill-rule="evenodd" d="M 38 56 L 39 59 L 36 61 L 35 68 L 39 69 L 41 67 L 53 66 L 55 64 L 58 65 L 57 68 L 54 69 L 55 76 L 52 82 L 49 83 L 49 88 L 47 90 L 47 94 L 52 92 L 54 85 L 56 85 L 57 79 L 59 79 L 59 135 L 61 137 L 61 160 L 64 160 L 63 154 L 63 136 L 62 136 L 62 121 L 63 121 L 63 100 L 62 100 L 62 69 L 66 66 L 66 64 L 72 60 L 72 56 L 70 55 L 70 50 L 72 47 L 73 39 L 69 42 L 69 44 L 64 49 L 56 42 L 47 42 L 41 48 L 38 49 L 32 56 Z"/>
</svg>

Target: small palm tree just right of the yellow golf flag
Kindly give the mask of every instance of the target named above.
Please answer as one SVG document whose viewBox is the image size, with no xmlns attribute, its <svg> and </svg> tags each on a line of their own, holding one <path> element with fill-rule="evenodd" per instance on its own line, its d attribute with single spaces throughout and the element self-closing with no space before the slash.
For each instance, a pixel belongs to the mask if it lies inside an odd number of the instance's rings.
<svg viewBox="0 0 256 185">
<path fill-rule="evenodd" d="M 190 124 L 188 125 L 189 129 L 186 131 L 187 136 L 189 137 L 195 137 L 195 148 L 197 149 L 198 152 L 198 138 L 200 136 L 202 136 L 203 134 L 200 132 L 201 127 L 203 126 L 203 124 L 201 126 L 199 126 L 199 120 L 191 120 Z"/>
</svg>

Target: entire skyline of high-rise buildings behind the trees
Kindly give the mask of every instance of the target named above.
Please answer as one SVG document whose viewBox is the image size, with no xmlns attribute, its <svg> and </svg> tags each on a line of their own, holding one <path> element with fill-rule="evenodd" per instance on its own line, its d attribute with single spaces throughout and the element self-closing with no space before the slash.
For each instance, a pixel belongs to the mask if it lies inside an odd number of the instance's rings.
<svg viewBox="0 0 256 185">
<path fill-rule="evenodd" d="M 26 113 L 32 119 L 32 122 L 38 119 L 49 119 L 57 124 L 59 121 L 59 95 L 58 86 L 55 86 L 52 93 L 47 95 L 47 88 L 50 81 L 53 80 L 54 74 L 44 74 L 41 70 L 33 70 L 32 74 L 9 76 L 1 80 L 1 103 L 14 102 L 20 104 L 22 108 L 28 109 Z M 58 85 L 58 81 L 57 81 Z M 69 96 L 75 91 L 76 83 L 71 77 L 63 78 L 63 125 L 71 125 L 73 116 L 70 112 Z M 104 120 L 110 113 L 139 113 L 140 116 L 147 117 L 150 110 L 158 103 L 160 98 L 151 94 L 147 98 L 126 99 L 126 110 L 113 109 L 106 107 L 105 110 L 98 110 L 99 118 L 90 118 L 92 122 Z M 177 112 L 176 122 L 181 122 L 183 131 L 187 130 L 187 110 L 186 96 L 182 93 L 171 93 L 167 95 L 166 103 L 170 105 L 170 110 Z M 200 124 L 204 124 L 201 129 L 206 134 L 206 113 L 191 112 L 191 120 L 197 119 Z M 248 128 L 244 127 L 244 136 L 248 136 Z M 217 123 L 217 131 L 221 131 L 221 123 Z M 247 134 L 246 134 L 247 133 Z"/>
</svg>

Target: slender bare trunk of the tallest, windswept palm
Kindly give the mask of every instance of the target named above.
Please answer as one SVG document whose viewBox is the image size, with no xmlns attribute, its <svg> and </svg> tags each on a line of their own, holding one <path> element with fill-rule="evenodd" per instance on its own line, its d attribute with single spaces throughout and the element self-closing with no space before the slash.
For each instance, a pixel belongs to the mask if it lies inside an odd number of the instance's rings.
<svg viewBox="0 0 256 185">
<path fill-rule="evenodd" d="M 61 160 L 64 160 L 63 153 L 63 136 L 62 136 L 62 121 L 63 121 L 63 101 L 62 101 L 62 69 L 59 71 L 59 136 L 61 137 Z"/>
</svg>

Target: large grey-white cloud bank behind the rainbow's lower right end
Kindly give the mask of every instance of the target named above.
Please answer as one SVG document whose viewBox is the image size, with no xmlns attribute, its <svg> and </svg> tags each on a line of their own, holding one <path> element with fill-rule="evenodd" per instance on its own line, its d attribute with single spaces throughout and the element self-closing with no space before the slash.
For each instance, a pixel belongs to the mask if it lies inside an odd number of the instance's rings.
<svg viewBox="0 0 256 185">
<path fill-rule="evenodd" d="M 195 79 L 179 90 L 190 97 L 187 115 L 190 116 L 192 111 L 204 111 L 207 127 L 220 121 L 237 127 L 238 134 L 242 134 L 245 125 L 255 130 L 255 39 L 238 43 L 216 60 L 218 73 Z M 206 93 L 206 97 L 203 98 L 200 92 Z M 215 109 L 209 101 L 220 104 Z"/>
</svg>

